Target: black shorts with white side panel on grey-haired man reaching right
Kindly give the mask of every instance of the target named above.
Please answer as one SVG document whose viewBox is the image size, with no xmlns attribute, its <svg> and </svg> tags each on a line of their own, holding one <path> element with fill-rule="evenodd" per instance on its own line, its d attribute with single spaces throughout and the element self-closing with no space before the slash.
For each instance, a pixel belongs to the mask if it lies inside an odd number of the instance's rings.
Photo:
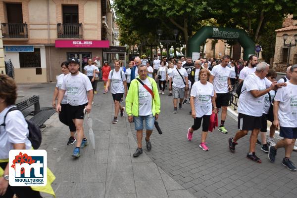
<svg viewBox="0 0 297 198">
<path fill-rule="evenodd" d="M 238 128 L 239 130 L 252 131 L 255 128 L 261 128 L 261 116 L 248 116 L 245 114 L 238 114 Z"/>
</svg>

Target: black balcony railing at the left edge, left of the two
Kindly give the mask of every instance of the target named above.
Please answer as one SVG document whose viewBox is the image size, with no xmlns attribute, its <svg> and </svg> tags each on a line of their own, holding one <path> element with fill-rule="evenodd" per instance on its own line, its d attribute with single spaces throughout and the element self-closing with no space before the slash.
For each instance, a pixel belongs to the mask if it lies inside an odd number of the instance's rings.
<svg viewBox="0 0 297 198">
<path fill-rule="evenodd" d="M 1 23 L 3 39 L 28 39 L 26 23 Z"/>
</svg>

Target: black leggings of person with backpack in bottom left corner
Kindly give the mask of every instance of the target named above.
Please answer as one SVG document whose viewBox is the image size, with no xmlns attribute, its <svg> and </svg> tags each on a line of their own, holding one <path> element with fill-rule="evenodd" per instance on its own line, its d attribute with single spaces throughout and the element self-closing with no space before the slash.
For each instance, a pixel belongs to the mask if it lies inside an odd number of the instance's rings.
<svg viewBox="0 0 297 198">
<path fill-rule="evenodd" d="M 1 162 L 0 167 L 4 170 L 7 162 Z M 33 191 L 27 186 L 10 186 L 8 184 L 5 195 L 0 198 L 12 198 L 16 194 L 18 198 L 42 198 L 38 191 Z"/>
</svg>

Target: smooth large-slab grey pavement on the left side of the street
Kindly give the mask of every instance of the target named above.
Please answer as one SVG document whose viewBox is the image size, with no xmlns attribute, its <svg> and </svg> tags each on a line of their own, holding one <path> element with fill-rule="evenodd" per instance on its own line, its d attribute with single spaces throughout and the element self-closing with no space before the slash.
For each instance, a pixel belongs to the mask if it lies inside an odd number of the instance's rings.
<svg viewBox="0 0 297 198">
<path fill-rule="evenodd" d="M 137 148 L 134 129 L 131 131 L 126 116 L 119 117 L 116 124 L 111 123 L 114 111 L 111 94 L 102 94 L 102 83 L 99 88 L 91 112 L 96 154 L 89 145 L 81 150 L 80 158 L 72 158 L 74 145 L 66 145 L 68 127 L 58 120 L 57 114 L 45 123 L 40 149 L 48 152 L 48 166 L 56 176 L 52 187 L 57 198 L 195 198 L 146 153 L 132 157 Z M 18 93 L 20 98 L 40 95 L 41 106 L 45 107 L 51 104 L 53 89 L 53 83 L 20 85 Z"/>
</svg>

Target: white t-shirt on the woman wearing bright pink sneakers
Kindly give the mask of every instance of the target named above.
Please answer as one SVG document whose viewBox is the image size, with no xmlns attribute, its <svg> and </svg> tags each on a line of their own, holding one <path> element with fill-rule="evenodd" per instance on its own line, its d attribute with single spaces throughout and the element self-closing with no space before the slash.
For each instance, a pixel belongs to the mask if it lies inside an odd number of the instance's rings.
<svg viewBox="0 0 297 198">
<path fill-rule="evenodd" d="M 211 115 L 211 97 L 213 97 L 213 94 L 213 85 L 210 82 L 202 84 L 199 80 L 193 84 L 191 96 L 195 97 L 194 105 L 197 118 L 201 118 L 204 115 Z"/>
</svg>

